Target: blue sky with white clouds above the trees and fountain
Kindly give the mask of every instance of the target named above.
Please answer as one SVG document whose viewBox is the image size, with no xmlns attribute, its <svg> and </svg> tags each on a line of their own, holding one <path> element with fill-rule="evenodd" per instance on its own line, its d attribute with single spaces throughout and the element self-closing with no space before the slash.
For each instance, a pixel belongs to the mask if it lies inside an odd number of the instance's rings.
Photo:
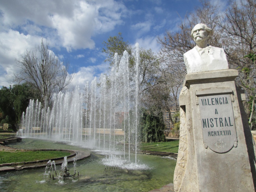
<svg viewBox="0 0 256 192">
<path fill-rule="evenodd" d="M 43 38 L 75 69 L 69 88 L 82 89 L 86 81 L 107 73 L 102 42 L 108 37 L 121 32 L 132 46 L 138 42 L 157 52 L 156 38 L 177 31 L 179 15 L 184 19 L 200 5 L 197 0 L 0 0 L 0 87 L 9 87 L 11 76 L 19 71 L 15 58 Z"/>
</svg>

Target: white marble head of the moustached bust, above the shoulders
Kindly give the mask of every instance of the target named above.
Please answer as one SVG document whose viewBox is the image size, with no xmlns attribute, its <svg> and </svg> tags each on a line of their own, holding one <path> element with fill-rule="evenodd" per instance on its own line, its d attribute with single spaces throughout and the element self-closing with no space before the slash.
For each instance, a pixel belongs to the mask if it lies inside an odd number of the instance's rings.
<svg viewBox="0 0 256 192">
<path fill-rule="evenodd" d="M 204 48 L 207 46 L 207 40 L 212 33 L 212 29 L 207 25 L 199 23 L 191 31 L 191 37 L 197 46 Z"/>
</svg>

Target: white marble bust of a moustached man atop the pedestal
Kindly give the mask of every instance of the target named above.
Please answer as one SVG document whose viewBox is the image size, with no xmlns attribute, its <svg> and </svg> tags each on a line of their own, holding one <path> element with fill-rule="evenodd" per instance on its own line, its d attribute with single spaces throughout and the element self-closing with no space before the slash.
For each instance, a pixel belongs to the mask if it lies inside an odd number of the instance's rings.
<svg viewBox="0 0 256 192">
<path fill-rule="evenodd" d="M 224 50 L 207 44 L 211 33 L 212 29 L 202 23 L 192 29 L 191 37 L 196 46 L 183 55 L 187 73 L 228 69 Z"/>
</svg>

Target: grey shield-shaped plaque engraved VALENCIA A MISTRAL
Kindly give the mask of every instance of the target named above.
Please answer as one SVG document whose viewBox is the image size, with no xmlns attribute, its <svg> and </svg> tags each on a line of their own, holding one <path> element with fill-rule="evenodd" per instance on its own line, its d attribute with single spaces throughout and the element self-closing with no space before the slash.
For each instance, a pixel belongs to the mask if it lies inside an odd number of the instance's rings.
<svg viewBox="0 0 256 192">
<path fill-rule="evenodd" d="M 200 120 L 205 147 L 225 153 L 237 144 L 230 94 L 199 96 Z"/>
</svg>

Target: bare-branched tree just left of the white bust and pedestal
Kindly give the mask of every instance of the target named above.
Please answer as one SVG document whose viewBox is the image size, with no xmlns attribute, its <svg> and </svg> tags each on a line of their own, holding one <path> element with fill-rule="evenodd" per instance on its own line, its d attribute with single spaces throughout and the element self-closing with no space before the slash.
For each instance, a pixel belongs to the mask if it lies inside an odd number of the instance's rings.
<svg viewBox="0 0 256 192">
<path fill-rule="evenodd" d="M 169 91 L 169 97 L 165 98 L 163 102 L 172 123 L 176 122 L 172 119 L 170 108 L 179 110 L 178 95 L 186 75 L 183 54 L 194 47 L 194 42 L 190 39 L 191 29 L 191 26 L 189 27 L 181 21 L 177 33 L 167 31 L 164 38 L 158 37 L 158 43 L 162 45 L 161 51 L 159 51 L 161 65 L 158 68 L 162 74 L 163 83 L 161 85 L 163 89 Z"/>
</svg>

